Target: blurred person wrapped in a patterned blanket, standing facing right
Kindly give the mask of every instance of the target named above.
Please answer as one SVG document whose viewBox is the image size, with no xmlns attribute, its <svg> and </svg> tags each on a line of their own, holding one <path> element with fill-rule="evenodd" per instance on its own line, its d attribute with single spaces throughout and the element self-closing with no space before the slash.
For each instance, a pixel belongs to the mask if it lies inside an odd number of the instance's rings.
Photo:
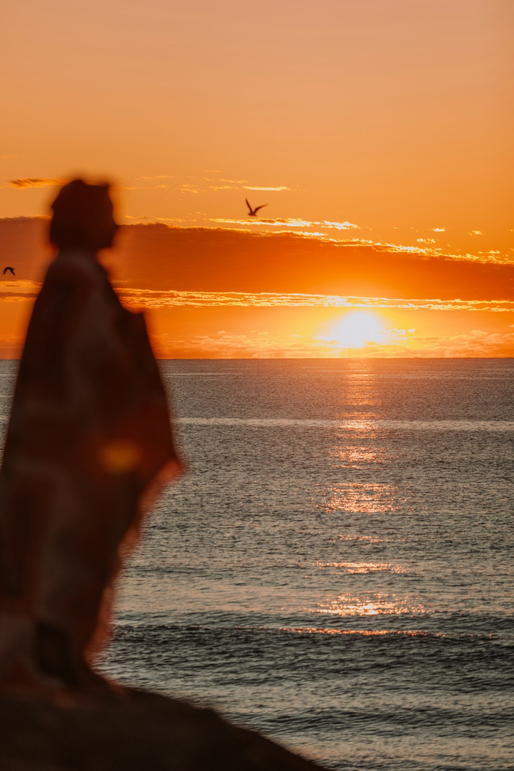
<svg viewBox="0 0 514 771">
<path fill-rule="evenodd" d="M 92 662 L 113 582 L 152 498 L 182 465 L 143 315 L 97 259 L 108 185 L 52 204 L 58 254 L 35 301 L 0 472 L 0 687 L 109 689 Z"/>
</svg>

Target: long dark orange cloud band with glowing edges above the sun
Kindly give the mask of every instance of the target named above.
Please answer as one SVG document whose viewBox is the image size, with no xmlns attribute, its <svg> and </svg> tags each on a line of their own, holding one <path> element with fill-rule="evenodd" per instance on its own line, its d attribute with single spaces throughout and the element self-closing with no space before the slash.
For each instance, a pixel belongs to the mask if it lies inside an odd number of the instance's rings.
<svg viewBox="0 0 514 771">
<path fill-rule="evenodd" d="M 52 257 L 47 227 L 41 218 L 0 220 L 0 267 L 2 262 L 12 264 L 17 278 L 40 281 Z M 514 300 L 512 262 L 489 261 L 487 255 L 435 256 L 419 248 L 405 251 L 398 244 L 360 239 L 304 237 L 291 225 L 286 233 L 262 234 L 224 227 L 129 224 L 120 227 L 115 246 L 105 254 L 113 279 L 137 290 L 385 298 L 397 305 L 399 301 L 408 305 L 412 298 L 436 298 L 426 301 L 445 308 L 448 304 L 461 308 L 471 301 L 503 308 L 507 307 L 503 301 Z M 169 298 L 161 301 L 167 303 Z"/>
</svg>

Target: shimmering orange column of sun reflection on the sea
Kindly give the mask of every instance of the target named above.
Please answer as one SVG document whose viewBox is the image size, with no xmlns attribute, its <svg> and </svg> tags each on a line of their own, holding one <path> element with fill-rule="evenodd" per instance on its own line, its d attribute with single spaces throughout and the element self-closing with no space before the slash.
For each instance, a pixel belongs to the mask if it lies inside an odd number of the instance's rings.
<svg viewBox="0 0 514 771">
<path fill-rule="evenodd" d="M 395 479 L 393 472 L 398 455 L 388 442 L 387 431 L 379 423 L 383 417 L 379 412 L 379 397 L 377 379 L 373 373 L 354 372 L 349 375 L 344 393 L 341 394 L 344 410 L 341 410 L 339 416 L 339 430 L 328 448 L 333 474 L 324 487 L 324 501 L 321 504 L 324 512 L 337 513 L 342 517 L 334 517 L 338 531 L 329 539 L 335 551 L 327 555 L 328 558 L 311 563 L 314 569 L 324 571 L 328 582 L 333 581 L 334 577 L 348 577 L 347 583 L 351 581 L 353 591 L 348 594 L 330 592 L 324 594 L 324 597 L 318 595 L 316 607 L 308 608 L 308 611 L 318 616 L 354 618 L 356 625 L 359 625 L 359 618 L 368 618 L 368 622 L 361 621 L 361 624 L 371 626 L 375 625 L 371 617 L 380 618 L 377 625 L 383 626 L 384 618 L 425 613 L 418 596 L 396 591 L 400 589 L 400 576 L 408 574 L 409 570 L 394 558 L 391 560 L 394 552 L 385 546 L 398 540 L 398 535 L 391 537 L 390 533 L 385 532 L 387 520 L 383 515 L 407 513 L 412 510 L 412 500 L 409 490 L 401 489 L 392 481 Z M 366 519 L 358 519 L 353 516 L 355 514 L 365 515 Z M 375 520 L 368 519 L 374 515 Z M 344 526 L 346 523 L 353 533 L 341 534 L 341 524 Z M 360 532 L 356 527 L 358 524 L 361 526 Z M 366 532 L 370 526 L 371 533 Z M 371 544 L 383 545 L 370 550 L 368 547 Z M 383 591 L 371 591 L 377 588 L 378 581 Z M 338 587 L 336 591 L 341 591 L 341 588 Z M 401 584 L 403 588 L 405 581 Z M 405 630 L 356 631 L 317 626 L 291 628 L 291 631 L 364 636 L 422 634 Z"/>
</svg>

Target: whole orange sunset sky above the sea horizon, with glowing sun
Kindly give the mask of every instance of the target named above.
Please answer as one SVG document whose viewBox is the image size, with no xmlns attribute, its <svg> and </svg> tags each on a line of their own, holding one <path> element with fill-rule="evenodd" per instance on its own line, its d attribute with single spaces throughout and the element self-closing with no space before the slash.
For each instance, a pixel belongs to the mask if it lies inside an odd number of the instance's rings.
<svg viewBox="0 0 514 771">
<path fill-rule="evenodd" d="M 511 0 L 10 3 L 0 356 L 77 176 L 113 181 L 102 260 L 159 356 L 514 355 L 513 30 Z"/>
</svg>

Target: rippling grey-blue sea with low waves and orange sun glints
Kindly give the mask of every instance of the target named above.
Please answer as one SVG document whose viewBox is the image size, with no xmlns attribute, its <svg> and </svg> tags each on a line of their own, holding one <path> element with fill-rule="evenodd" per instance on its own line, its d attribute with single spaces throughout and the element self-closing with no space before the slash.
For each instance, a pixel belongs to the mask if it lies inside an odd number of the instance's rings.
<svg viewBox="0 0 514 771">
<path fill-rule="evenodd" d="M 331 769 L 514 768 L 514 361 L 162 371 L 190 470 L 103 670 Z"/>
</svg>

